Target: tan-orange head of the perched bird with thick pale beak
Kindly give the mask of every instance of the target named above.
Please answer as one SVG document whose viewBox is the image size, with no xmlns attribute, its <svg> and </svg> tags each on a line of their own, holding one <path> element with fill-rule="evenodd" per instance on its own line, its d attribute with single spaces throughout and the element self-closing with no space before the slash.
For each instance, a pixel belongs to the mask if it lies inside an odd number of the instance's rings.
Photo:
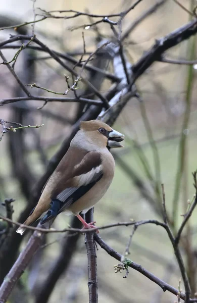
<svg viewBox="0 0 197 303">
<path fill-rule="evenodd" d="M 80 129 L 86 135 L 89 142 L 100 148 L 123 147 L 120 143 L 124 135 L 112 129 L 108 124 L 99 120 L 81 121 Z"/>
</svg>

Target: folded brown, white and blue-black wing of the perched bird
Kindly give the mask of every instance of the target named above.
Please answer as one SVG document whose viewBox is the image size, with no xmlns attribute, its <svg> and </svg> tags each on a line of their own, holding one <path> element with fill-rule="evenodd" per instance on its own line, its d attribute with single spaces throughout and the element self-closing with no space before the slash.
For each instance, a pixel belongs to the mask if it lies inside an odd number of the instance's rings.
<svg viewBox="0 0 197 303">
<path fill-rule="evenodd" d="M 63 174 L 52 191 L 51 208 L 41 224 L 69 208 L 103 177 L 101 154 L 96 151 L 87 153 L 80 163 L 72 167 L 70 176 L 68 179 L 68 173 Z"/>
</svg>

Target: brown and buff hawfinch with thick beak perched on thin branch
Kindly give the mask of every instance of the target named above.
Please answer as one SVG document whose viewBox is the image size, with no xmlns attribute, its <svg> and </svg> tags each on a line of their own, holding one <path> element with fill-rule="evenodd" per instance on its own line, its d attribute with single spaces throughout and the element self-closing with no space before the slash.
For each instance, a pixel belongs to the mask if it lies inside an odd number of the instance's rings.
<svg viewBox="0 0 197 303">
<path fill-rule="evenodd" d="M 41 216 L 40 224 L 61 212 L 74 214 L 83 229 L 95 228 L 86 223 L 85 214 L 106 193 L 112 183 L 115 161 L 111 148 L 123 147 L 124 135 L 100 120 L 81 121 L 67 153 L 44 185 L 37 205 L 24 222 L 31 225 Z M 24 226 L 17 229 L 23 234 Z"/>
</svg>

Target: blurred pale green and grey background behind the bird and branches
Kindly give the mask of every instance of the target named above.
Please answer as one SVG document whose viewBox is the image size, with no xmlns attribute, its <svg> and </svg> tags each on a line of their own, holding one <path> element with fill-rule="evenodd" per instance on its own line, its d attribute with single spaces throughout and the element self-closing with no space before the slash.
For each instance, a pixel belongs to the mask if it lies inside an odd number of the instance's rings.
<svg viewBox="0 0 197 303">
<path fill-rule="evenodd" d="M 35 12 L 43 14 L 52 10 L 77 10 L 91 14 L 115 14 L 127 10 L 133 1 L 100 0 L 63 1 L 7 0 L 1 3 L 0 26 L 8 27 L 32 21 Z M 197 5 L 196 1 L 180 0 L 190 12 Z M 122 23 L 122 35 L 131 24 L 153 7 L 153 12 L 142 19 L 124 39 L 125 56 L 131 64 L 154 43 L 178 27 L 191 20 L 191 16 L 174 1 L 142 1 L 130 11 Z M 70 16 L 70 13 L 64 13 Z M 62 16 L 59 12 L 56 16 Z M 37 19 L 39 16 L 36 17 Z M 117 21 L 117 17 L 111 18 Z M 88 27 L 97 21 L 92 17 L 78 16 L 72 19 L 47 18 L 35 23 L 36 37 L 55 51 L 73 56 L 77 61 L 84 51 L 82 32 L 84 33 L 86 53 L 93 52 L 98 41 L 103 38 L 113 40 L 113 31 L 108 23 Z M 85 25 L 85 26 L 83 26 Z M 80 27 L 82 26 L 82 27 Z M 76 27 L 79 27 L 76 29 Z M 85 28 L 87 29 L 85 29 Z M 32 32 L 31 25 L 20 30 Z M 25 33 L 25 32 L 23 32 Z M 16 34 L 13 29 L 0 31 L 0 41 Z M 10 44 L 12 45 L 12 44 Z M 21 45 L 21 41 L 13 45 Z M 7 60 L 11 60 L 15 49 L 3 49 Z M 87 58 L 87 55 L 84 56 Z M 171 60 L 195 60 L 196 36 L 181 42 L 165 53 Z M 84 59 L 83 59 L 84 60 Z M 74 64 L 67 62 L 71 68 Z M 90 64 L 113 73 L 109 59 L 96 57 Z M 77 72 L 80 68 L 75 68 Z M 20 53 L 15 71 L 25 84 L 36 83 L 53 91 L 64 92 L 67 89 L 64 74 L 71 74 L 57 64 L 47 53 L 25 49 Z M 91 78 L 91 73 L 84 72 Z M 1 99 L 21 96 L 24 93 L 6 65 L 0 65 Z M 118 75 L 116 75 L 118 77 Z M 161 183 L 164 184 L 166 207 L 171 227 L 175 232 L 183 220 L 180 216 L 188 208 L 188 200 L 195 193 L 192 172 L 197 168 L 196 160 L 196 119 L 197 119 L 197 61 L 196 64 L 170 64 L 155 62 L 137 80 L 136 88 L 143 102 L 131 98 L 114 128 L 125 134 L 125 147 L 114 152 L 116 172 L 113 183 L 104 198 L 95 206 L 94 220 L 97 226 L 144 219 L 158 219 L 161 216 Z M 100 81 L 101 80 L 101 81 Z M 112 81 L 96 78 L 98 89 L 107 93 Z M 101 83 L 98 83 L 98 82 Z M 28 87 L 29 88 L 29 87 Z M 38 96 L 54 96 L 37 88 L 29 88 Z M 78 95 L 91 93 L 84 84 L 79 83 Z M 57 95 L 55 95 L 56 97 Z M 73 96 L 69 92 L 68 96 Z M 43 102 L 27 100 L 4 105 L 0 108 L 0 118 L 23 125 L 40 125 L 39 129 L 17 130 L 16 133 L 4 134 L 0 142 L 0 200 L 14 198 L 13 220 L 17 221 L 26 208 L 32 195 L 33 186 L 46 170 L 48 161 L 60 148 L 69 135 L 72 125 L 85 110 L 77 103 L 48 102 L 42 109 Z M 136 176 L 140 180 L 136 182 Z M 177 208 L 176 208 L 177 206 Z M 0 206 L 0 214 L 5 215 L 5 207 Z M 196 210 L 183 233 L 181 252 L 191 281 L 192 293 L 196 285 Z M 55 228 L 66 228 L 70 217 L 60 214 L 54 222 Z M 114 227 L 101 230 L 101 237 L 120 254 L 124 255 L 132 227 Z M 15 287 L 9 302 L 38 302 L 36 293 L 46 280 L 48 272 L 62 253 L 62 245 L 67 234 L 48 234 L 43 247 L 37 252 L 20 283 Z M 3 236 L 2 236 L 3 237 Z M 17 235 L 18 237 L 18 235 Z M 20 245 L 25 246 L 29 233 Z M 3 239 L 3 238 L 2 238 Z M 2 240 L 2 245 L 5 239 Z M 16 240 L 17 241 L 17 240 Z M 15 242 L 14 242 L 15 243 Z M 12 249 L 16 247 L 12 246 Z M 1 245 L 1 241 L 0 241 Z M 18 247 L 17 247 L 18 248 Z M 16 250 L 16 254 L 18 254 Z M 1 247 L 0 247 L 0 257 Z M 16 256 L 12 256 L 15 258 Z M 65 254 L 64 258 L 66 259 Z M 2 257 L 4 258 L 4 256 Z M 64 259 L 63 258 L 63 259 Z M 167 233 L 161 227 L 144 225 L 138 227 L 132 237 L 130 255 L 132 261 L 140 264 L 157 277 L 177 288 L 180 271 L 175 260 L 172 245 Z M 63 261 L 64 262 L 64 261 Z M 118 262 L 110 257 L 101 247 L 97 250 L 98 298 L 100 302 L 172 302 L 176 298 L 140 273 L 130 269 L 127 279 L 123 273 L 115 274 L 114 265 Z M 0 270 L 1 272 L 1 270 Z M 1 274 L 0 274 L 1 275 Z M 3 278 L 3 277 L 1 277 Z M 183 284 L 181 284 L 183 288 Z M 87 254 L 84 236 L 80 235 L 73 258 L 56 283 L 48 302 L 88 302 L 87 289 Z"/>
</svg>

